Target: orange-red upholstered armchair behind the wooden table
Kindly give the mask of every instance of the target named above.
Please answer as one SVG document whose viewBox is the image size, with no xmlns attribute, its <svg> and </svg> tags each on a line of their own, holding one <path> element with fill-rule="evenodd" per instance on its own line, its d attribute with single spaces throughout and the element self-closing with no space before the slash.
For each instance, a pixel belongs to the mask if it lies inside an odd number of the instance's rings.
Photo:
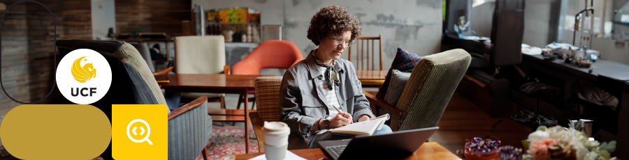
<svg viewBox="0 0 629 160">
<path fill-rule="evenodd" d="M 290 41 L 287 40 L 267 40 L 261 43 L 251 54 L 249 54 L 243 61 L 233 65 L 231 74 L 239 75 L 258 75 L 260 70 L 267 68 L 276 69 L 289 69 L 295 63 L 303 60 L 301 51 L 299 48 Z M 255 90 L 250 90 L 249 94 L 255 94 Z M 238 100 L 238 109 L 240 109 L 240 103 L 243 102 L 247 95 L 240 95 Z M 255 106 L 255 97 L 250 99 L 254 102 L 251 106 L 253 109 Z"/>
</svg>

